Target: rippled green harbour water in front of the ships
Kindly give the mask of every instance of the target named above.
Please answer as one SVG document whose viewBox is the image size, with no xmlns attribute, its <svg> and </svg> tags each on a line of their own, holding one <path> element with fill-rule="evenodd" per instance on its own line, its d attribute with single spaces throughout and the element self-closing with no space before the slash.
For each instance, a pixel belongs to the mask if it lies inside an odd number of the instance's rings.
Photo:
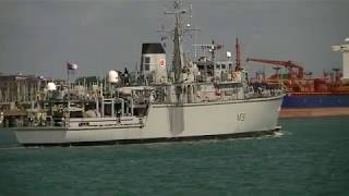
<svg viewBox="0 0 349 196">
<path fill-rule="evenodd" d="M 347 195 L 349 117 L 258 138 L 33 147 L 0 131 L 0 195 Z"/>
</svg>

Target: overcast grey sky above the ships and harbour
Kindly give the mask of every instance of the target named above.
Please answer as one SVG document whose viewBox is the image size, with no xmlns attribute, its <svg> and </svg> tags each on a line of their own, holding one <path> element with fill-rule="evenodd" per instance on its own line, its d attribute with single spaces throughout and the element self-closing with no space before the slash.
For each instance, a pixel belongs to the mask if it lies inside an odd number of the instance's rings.
<svg viewBox="0 0 349 196">
<path fill-rule="evenodd" d="M 131 70 L 142 42 L 159 41 L 165 19 L 156 0 L 0 0 L 0 72 L 65 77 L 65 61 L 77 75 Z M 315 75 L 340 68 L 330 50 L 349 37 L 348 0 L 192 0 L 198 44 L 222 44 L 243 58 L 292 60 Z M 192 40 L 193 41 L 193 40 Z M 192 50 L 192 48 L 188 48 Z M 250 70 L 262 70 L 262 66 Z"/>
</svg>

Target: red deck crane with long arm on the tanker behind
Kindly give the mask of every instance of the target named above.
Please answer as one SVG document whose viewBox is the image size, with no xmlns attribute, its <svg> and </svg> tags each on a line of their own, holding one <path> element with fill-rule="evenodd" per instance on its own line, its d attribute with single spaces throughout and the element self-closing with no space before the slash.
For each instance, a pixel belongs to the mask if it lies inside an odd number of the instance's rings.
<svg viewBox="0 0 349 196">
<path fill-rule="evenodd" d="M 304 71 L 303 68 L 300 65 L 294 64 L 292 61 L 275 61 L 275 60 L 266 60 L 266 59 L 252 59 L 248 58 L 246 62 L 253 61 L 253 62 L 260 62 L 268 65 L 278 65 L 284 66 L 289 71 L 289 79 L 294 79 L 294 70 L 296 70 L 296 78 L 297 79 L 303 79 Z"/>
</svg>

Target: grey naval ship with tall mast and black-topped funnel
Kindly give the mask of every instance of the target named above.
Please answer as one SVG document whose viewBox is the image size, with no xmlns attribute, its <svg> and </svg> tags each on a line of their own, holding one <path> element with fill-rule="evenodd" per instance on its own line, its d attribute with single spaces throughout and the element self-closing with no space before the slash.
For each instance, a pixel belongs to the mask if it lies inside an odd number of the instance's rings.
<svg viewBox="0 0 349 196">
<path fill-rule="evenodd" d="M 51 96 L 15 127 L 23 145 L 142 143 L 270 134 L 277 130 L 281 89 L 255 89 L 246 72 L 214 56 L 191 61 L 182 52 L 190 25 L 181 1 L 173 3 L 172 69 L 161 44 L 143 44 L 140 74 L 130 85 L 110 71 L 108 95 Z M 214 54 L 215 45 L 210 46 Z M 56 94 L 55 84 L 48 90 Z M 59 91 L 57 93 L 59 94 Z"/>
</svg>

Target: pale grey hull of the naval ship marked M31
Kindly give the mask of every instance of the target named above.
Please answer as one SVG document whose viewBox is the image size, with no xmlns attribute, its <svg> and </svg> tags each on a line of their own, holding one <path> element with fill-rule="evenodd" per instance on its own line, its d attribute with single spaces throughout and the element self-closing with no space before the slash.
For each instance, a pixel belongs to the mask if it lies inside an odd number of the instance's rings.
<svg viewBox="0 0 349 196">
<path fill-rule="evenodd" d="M 282 96 L 181 106 L 152 105 L 141 126 L 20 127 L 15 136 L 23 145 L 69 145 L 268 134 L 277 127 L 281 100 Z"/>
</svg>

